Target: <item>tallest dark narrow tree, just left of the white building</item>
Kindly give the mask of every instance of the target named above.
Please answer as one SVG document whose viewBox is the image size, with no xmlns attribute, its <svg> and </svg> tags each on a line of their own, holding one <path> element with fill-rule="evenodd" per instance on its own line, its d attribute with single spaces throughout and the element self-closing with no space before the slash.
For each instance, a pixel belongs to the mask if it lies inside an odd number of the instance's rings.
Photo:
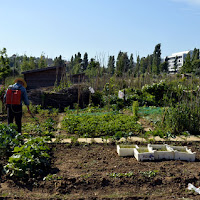
<svg viewBox="0 0 200 200">
<path fill-rule="evenodd" d="M 160 63 L 161 63 L 161 44 L 157 44 L 155 46 L 153 52 L 153 65 L 152 65 L 152 72 L 155 74 L 160 73 Z"/>
</svg>

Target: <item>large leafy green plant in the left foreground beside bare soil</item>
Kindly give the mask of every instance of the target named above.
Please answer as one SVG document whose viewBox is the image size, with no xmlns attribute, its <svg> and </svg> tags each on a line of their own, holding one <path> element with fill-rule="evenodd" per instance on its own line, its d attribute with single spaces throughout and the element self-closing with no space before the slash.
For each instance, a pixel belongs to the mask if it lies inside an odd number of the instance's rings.
<svg viewBox="0 0 200 200">
<path fill-rule="evenodd" d="M 4 171 L 9 176 L 34 177 L 44 175 L 50 166 L 48 138 L 35 137 L 25 141 L 24 145 L 15 147 Z"/>
</svg>

